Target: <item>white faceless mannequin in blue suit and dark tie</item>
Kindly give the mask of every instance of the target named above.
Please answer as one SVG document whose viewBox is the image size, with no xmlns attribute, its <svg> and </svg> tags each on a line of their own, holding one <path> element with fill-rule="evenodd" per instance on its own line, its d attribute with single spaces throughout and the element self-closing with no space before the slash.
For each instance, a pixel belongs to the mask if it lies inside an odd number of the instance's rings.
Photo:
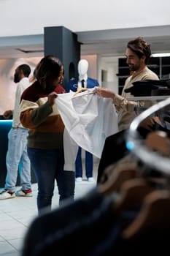
<svg viewBox="0 0 170 256">
<path fill-rule="evenodd" d="M 77 66 L 79 78 L 72 79 L 66 86 L 66 91 L 77 91 L 77 89 L 88 89 L 99 86 L 98 81 L 88 77 L 88 61 L 81 59 Z M 75 162 L 76 181 L 82 181 L 82 148 L 78 148 L 77 158 Z M 94 182 L 93 178 L 93 154 L 85 151 L 85 176 L 89 182 Z"/>
</svg>

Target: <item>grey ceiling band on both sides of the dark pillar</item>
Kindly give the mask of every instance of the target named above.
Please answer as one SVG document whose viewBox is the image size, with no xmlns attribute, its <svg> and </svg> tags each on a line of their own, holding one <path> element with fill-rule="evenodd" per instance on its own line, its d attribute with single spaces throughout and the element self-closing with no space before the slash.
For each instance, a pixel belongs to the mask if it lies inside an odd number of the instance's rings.
<svg viewBox="0 0 170 256">
<path fill-rule="evenodd" d="M 152 53 L 170 52 L 170 26 L 74 33 L 77 34 L 77 40 L 81 42 L 81 55 L 99 55 L 109 58 L 124 56 L 128 40 L 138 36 L 150 42 Z M 43 34 L 0 37 L 0 59 L 37 57 L 43 54 Z"/>
</svg>

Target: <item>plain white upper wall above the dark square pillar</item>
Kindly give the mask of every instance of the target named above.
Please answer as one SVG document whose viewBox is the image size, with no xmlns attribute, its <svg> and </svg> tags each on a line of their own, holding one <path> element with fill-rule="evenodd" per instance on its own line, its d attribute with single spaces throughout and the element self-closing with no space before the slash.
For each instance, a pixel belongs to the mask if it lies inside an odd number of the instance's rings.
<svg viewBox="0 0 170 256">
<path fill-rule="evenodd" d="M 169 10 L 167 0 L 1 0 L 0 37 L 43 34 L 45 26 L 73 32 L 163 26 Z"/>
</svg>

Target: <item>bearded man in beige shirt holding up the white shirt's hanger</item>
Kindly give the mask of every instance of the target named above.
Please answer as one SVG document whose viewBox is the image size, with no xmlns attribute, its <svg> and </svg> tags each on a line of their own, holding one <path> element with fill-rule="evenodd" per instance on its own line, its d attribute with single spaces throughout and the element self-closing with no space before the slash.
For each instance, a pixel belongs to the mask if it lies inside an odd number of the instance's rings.
<svg viewBox="0 0 170 256">
<path fill-rule="evenodd" d="M 117 109 L 117 121 L 119 131 L 115 135 L 109 136 L 105 143 L 101 154 L 101 159 L 98 165 L 98 177 L 97 183 L 100 182 L 101 176 L 104 169 L 111 165 L 117 160 L 121 159 L 128 153 L 125 146 L 125 135 L 126 129 L 131 124 L 131 121 L 139 114 L 136 110 L 137 102 L 128 101 L 127 97 L 133 97 L 130 93 L 125 93 L 125 89 L 128 89 L 132 84 L 139 80 L 159 80 L 158 75 L 156 75 L 152 70 L 147 67 L 148 61 L 150 60 L 151 50 L 150 44 L 145 41 L 143 37 L 137 37 L 128 42 L 125 51 L 125 56 L 127 58 L 127 64 L 130 69 L 131 75 L 125 80 L 125 86 L 123 87 L 122 95 L 116 94 L 114 91 L 109 89 L 98 87 L 97 93 L 101 97 L 112 98 L 113 104 Z M 153 102 L 146 101 L 140 102 L 140 107 L 149 108 Z M 144 124 L 142 132 L 146 132 L 150 129 L 150 126 L 154 124 L 154 120 L 148 119 Z M 113 149 L 111 149 L 113 148 Z"/>
</svg>

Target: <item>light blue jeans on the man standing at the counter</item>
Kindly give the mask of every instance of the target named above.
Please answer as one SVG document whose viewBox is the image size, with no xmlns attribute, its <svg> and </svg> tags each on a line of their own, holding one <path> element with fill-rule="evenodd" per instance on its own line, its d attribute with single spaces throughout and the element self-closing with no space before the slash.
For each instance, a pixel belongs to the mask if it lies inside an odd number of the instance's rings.
<svg viewBox="0 0 170 256">
<path fill-rule="evenodd" d="M 11 128 L 8 133 L 8 150 L 6 156 L 7 176 L 5 189 L 15 191 L 18 171 L 23 190 L 31 189 L 31 164 L 27 154 L 28 130 Z"/>
</svg>

